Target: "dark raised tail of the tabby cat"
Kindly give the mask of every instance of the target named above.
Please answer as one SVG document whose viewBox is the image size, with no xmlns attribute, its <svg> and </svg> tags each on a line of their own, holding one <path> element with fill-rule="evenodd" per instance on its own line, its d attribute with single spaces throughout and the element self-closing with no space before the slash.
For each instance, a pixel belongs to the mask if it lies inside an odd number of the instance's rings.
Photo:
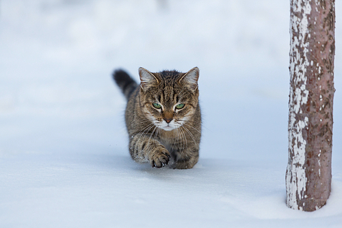
<svg viewBox="0 0 342 228">
<path fill-rule="evenodd" d="M 113 78 L 114 81 L 116 81 L 116 84 L 120 87 L 124 97 L 129 99 L 129 96 L 131 96 L 132 92 L 138 86 L 134 79 L 132 79 L 126 71 L 122 71 L 121 69 L 114 71 Z"/>
</svg>

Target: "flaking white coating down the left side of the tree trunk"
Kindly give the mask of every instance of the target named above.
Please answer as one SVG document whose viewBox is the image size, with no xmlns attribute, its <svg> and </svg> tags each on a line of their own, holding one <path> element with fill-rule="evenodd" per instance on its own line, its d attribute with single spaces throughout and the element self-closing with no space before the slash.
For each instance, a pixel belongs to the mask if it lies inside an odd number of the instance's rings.
<svg viewBox="0 0 342 228">
<path fill-rule="evenodd" d="M 308 90 L 306 89 L 307 76 L 306 68 L 313 62 L 308 61 L 307 53 L 308 42 L 304 42 L 305 36 L 308 36 L 308 14 L 311 13 L 310 0 L 293 0 L 293 12 L 300 12 L 302 18 L 291 14 L 291 44 L 290 44 L 290 76 L 293 81 L 293 88 L 290 88 L 289 101 L 289 156 L 293 155 L 292 160 L 289 157 L 287 165 L 287 205 L 294 209 L 302 210 L 298 201 L 304 199 L 306 190 L 305 175 L 305 149 L 306 140 L 303 137 L 303 129 L 308 126 L 308 117 L 304 121 L 297 120 L 297 114 L 302 113 L 302 105 L 308 102 Z M 293 30 L 292 30 L 293 29 Z M 298 36 L 293 36 L 293 31 Z M 302 49 L 304 58 L 300 55 L 298 48 Z"/>
</svg>

